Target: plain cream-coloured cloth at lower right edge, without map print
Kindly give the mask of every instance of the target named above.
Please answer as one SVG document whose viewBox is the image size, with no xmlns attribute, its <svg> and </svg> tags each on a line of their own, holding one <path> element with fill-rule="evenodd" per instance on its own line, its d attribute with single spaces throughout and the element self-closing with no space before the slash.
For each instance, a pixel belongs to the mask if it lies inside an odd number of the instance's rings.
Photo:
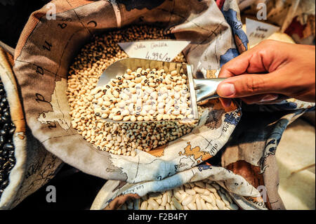
<svg viewBox="0 0 316 224">
<path fill-rule="evenodd" d="M 315 209 L 315 127 L 297 119 L 284 131 L 276 152 L 279 195 L 286 209 Z M 293 173 L 298 171 L 297 173 Z"/>
</svg>

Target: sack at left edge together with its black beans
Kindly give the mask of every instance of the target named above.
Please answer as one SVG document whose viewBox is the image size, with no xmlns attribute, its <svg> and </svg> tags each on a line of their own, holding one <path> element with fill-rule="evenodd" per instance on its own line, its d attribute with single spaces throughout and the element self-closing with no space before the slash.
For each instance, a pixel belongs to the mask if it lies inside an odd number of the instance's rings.
<svg viewBox="0 0 316 224">
<path fill-rule="evenodd" d="M 38 190 L 61 163 L 26 128 L 11 63 L 13 55 L 0 46 L 0 210 Z"/>
</svg>

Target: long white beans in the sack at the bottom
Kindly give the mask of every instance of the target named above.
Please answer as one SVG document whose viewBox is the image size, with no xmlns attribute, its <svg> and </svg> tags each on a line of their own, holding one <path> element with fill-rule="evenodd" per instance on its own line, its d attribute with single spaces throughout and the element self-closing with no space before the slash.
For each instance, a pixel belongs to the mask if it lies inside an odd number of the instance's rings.
<svg viewBox="0 0 316 224">
<path fill-rule="evenodd" d="M 185 183 L 173 190 L 129 199 L 121 210 L 238 210 L 228 192 L 212 180 Z"/>
</svg>

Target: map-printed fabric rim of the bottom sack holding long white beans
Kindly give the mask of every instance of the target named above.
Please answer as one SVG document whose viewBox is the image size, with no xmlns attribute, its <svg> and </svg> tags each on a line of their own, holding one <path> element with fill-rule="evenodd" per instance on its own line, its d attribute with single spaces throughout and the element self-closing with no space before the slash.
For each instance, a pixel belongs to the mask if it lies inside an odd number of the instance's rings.
<svg viewBox="0 0 316 224">
<path fill-rule="evenodd" d="M 230 196 L 242 209 L 266 210 L 261 193 L 244 178 L 220 166 L 200 164 L 187 171 L 181 171 L 164 180 L 131 184 L 118 180 L 108 180 L 91 206 L 92 210 L 118 209 L 126 199 L 137 199 L 149 192 L 164 192 L 185 183 L 209 178 L 230 192 Z M 249 200 L 251 198 L 252 200 Z"/>
</svg>

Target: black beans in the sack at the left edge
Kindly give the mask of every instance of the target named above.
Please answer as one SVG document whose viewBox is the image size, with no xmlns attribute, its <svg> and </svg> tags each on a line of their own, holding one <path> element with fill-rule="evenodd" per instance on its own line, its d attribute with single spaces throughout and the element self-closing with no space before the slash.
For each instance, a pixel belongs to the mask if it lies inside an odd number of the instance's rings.
<svg viewBox="0 0 316 224">
<path fill-rule="evenodd" d="M 9 184 L 8 176 L 15 165 L 14 131 L 15 125 L 11 121 L 6 91 L 0 80 L 0 197 Z"/>
</svg>

